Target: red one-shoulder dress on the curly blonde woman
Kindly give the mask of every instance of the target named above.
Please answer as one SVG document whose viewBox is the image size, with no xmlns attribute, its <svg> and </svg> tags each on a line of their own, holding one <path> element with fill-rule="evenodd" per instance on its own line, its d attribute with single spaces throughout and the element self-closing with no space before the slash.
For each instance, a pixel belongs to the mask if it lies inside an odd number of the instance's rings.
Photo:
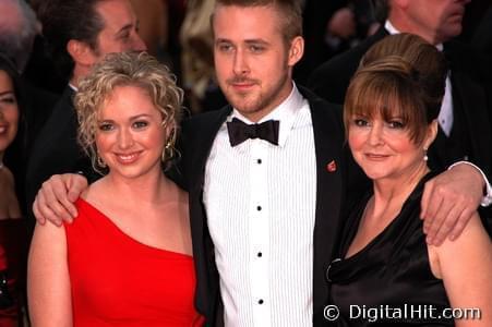
<svg viewBox="0 0 492 327">
<path fill-rule="evenodd" d="M 142 244 L 85 201 L 76 206 L 65 225 L 74 326 L 203 324 L 191 256 Z"/>
</svg>

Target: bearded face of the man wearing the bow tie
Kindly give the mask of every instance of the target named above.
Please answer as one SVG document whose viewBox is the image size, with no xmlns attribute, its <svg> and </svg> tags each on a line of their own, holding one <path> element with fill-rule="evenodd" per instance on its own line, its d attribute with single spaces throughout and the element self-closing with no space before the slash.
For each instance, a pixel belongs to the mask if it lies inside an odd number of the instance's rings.
<svg viewBox="0 0 492 327">
<path fill-rule="evenodd" d="M 227 100 L 259 121 L 290 94 L 291 71 L 302 57 L 303 40 L 286 46 L 273 7 L 218 5 L 214 13 L 214 58 Z"/>
</svg>

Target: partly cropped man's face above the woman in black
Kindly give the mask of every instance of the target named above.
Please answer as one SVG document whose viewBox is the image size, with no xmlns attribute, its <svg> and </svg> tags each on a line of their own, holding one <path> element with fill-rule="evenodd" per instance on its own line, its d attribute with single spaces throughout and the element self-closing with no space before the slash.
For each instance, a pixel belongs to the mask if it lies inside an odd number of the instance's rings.
<svg viewBox="0 0 492 327">
<path fill-rule="evenodd" d="M 411 31 L 432 44 L 444 43 L 461 33 L 465 4 L 471 0 L 411 0 L 408 15 Z"/>
</svg>

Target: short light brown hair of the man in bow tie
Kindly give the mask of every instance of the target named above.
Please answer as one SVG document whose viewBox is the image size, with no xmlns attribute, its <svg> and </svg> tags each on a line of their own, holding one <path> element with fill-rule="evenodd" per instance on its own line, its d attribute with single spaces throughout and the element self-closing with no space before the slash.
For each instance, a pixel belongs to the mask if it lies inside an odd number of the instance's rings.
<svg viewBox="0 0 492 327">
<path fill-rule="evenodd" d="M 278 10 L 281 26 L 278 26 L 286 45 L 297 37 L 302 36 L 302 10 L 299 0 L 217 0 L 218 5 L 238 7 L 269 7 Z M 213 22 L 212 14 L 211 22 Z"/>
</svg>

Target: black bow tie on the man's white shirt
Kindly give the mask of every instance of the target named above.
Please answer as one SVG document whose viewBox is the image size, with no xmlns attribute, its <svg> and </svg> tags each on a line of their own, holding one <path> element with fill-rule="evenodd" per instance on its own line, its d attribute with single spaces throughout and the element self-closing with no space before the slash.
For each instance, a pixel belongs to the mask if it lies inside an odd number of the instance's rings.
<svg viewBox="0 0 492 327">
<path fill-rule="evenodd" d="M 261 124 L 247 124 L 233 118 L 232 121 L 227 123 L 230 145 L 236 146 L 248 138 L 261 138 L 278 145 L 278 120 L 267 120 Z"/>
</svg>

